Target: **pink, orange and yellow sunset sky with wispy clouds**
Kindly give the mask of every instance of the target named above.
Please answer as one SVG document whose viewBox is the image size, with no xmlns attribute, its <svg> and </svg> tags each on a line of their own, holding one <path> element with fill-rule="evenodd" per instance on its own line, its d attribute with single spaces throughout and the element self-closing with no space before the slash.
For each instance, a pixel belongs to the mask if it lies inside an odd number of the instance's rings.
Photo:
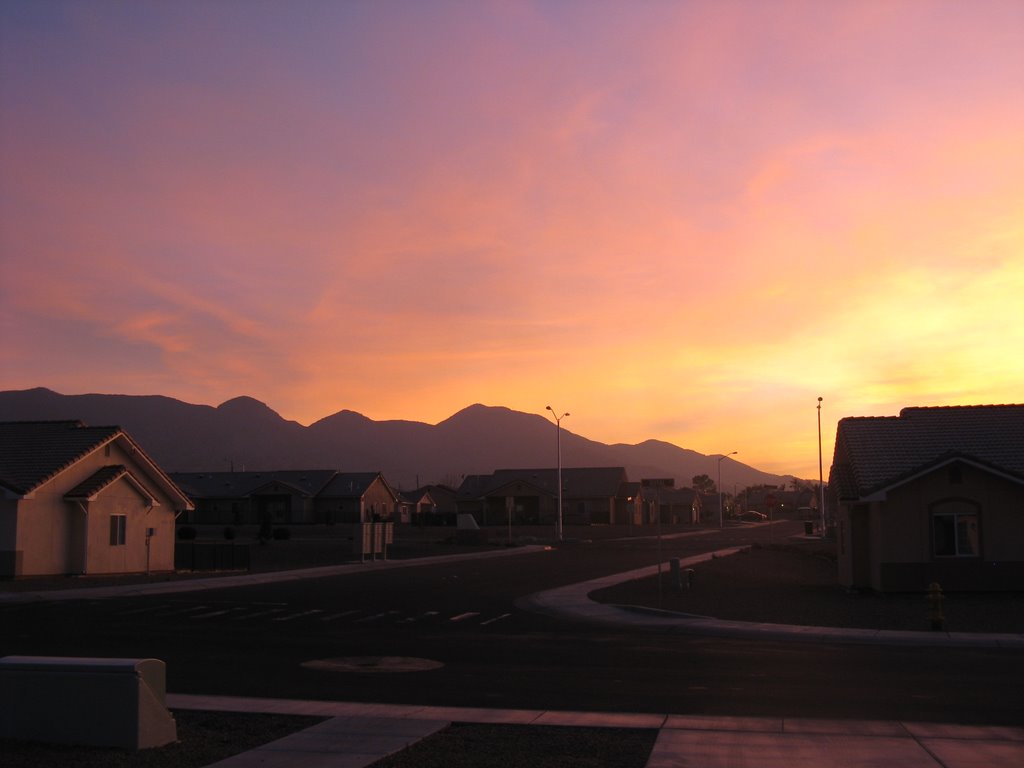
<svg viewBox="0 0 1024 768">
<path fill-rule="evenodd" d="M 1024 401 L 1022 297 L 1021 0 L 0 4 L 0 389 L 816 478 Z"/>
</svg>

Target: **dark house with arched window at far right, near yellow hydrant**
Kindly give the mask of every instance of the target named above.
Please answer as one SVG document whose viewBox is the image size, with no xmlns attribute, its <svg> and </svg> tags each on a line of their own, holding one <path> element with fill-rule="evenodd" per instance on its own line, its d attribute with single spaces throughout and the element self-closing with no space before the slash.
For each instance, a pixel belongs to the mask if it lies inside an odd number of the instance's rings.
<svg viewBox="0 0 1024 768">
<path fill-rule="evenodd" d="M 1024 406 L 843 419 L 828 488 L 841 584 L 1024 589 Z"/>
</svg>

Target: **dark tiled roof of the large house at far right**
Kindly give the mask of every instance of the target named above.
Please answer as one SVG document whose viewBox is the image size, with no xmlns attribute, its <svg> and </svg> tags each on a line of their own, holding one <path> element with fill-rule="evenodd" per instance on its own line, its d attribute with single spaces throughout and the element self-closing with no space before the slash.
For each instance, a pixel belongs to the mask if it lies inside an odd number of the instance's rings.
<svg viewBox="0 0 1024 768">
<path fill-rule="evenodd" d="M 1024 404 L 842 419 L 828 483 L 841 499 L 860 499 L 953 457 L 1024 479 Z"/>
</svg>

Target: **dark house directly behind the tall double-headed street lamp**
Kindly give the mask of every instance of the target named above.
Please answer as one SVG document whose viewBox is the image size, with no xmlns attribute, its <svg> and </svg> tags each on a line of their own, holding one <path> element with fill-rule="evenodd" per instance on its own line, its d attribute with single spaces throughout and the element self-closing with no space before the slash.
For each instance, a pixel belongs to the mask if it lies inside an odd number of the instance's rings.
<svg viewBox="0 0 1024 768">
<path fill-rule="evenodd" d="M 563 523 L 628 522 L 625 468 L 574 467 L 561 473 Z M 554 523 L 558 470 L 499 469 L 489 475 L 467 475 L 457 504 L 460 513 L 472 514 L 480 525 Z"/>
</svg>

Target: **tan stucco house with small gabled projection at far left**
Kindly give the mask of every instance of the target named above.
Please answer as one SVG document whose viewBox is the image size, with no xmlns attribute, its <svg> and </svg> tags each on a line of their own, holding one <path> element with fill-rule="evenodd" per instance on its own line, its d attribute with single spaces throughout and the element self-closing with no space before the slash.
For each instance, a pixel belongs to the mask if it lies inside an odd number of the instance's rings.
<svg viewBox="0 0 1024 768">
<path fill-rule="evenodd" d="M 188 497 L 120 427 L 0 424 L 0 575 L 174 569 Z"/>
</svg>

